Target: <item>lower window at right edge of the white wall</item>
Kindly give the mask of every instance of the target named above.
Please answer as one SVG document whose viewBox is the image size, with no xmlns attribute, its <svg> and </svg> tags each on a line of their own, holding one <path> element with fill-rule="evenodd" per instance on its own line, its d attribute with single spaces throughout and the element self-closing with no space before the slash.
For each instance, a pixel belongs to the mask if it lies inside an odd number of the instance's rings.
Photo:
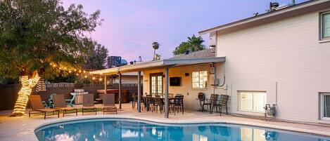
<svg viewBox="0 0 330 141">
<path fill-rule="evenodd" d="M 330 93 L 321 93 L 320 107 L 321 119 L 330 120 Z"/>
</svg>

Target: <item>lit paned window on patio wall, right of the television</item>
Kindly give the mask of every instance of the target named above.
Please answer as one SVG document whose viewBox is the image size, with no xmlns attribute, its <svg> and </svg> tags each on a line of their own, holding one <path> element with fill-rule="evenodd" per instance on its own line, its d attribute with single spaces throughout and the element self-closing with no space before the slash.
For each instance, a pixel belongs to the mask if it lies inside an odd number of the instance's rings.
<svg viewBox="0 0 330 141">
<path fill-rule="evenodd" d="M 193 88 L 206 88 L 208 71 L 193 72 Z"/>
</svg>

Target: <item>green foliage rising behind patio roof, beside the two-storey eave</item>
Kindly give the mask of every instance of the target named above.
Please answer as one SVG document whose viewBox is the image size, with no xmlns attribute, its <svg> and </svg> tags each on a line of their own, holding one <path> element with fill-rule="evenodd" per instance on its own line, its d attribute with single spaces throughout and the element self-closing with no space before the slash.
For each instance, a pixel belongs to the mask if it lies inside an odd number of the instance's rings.
<svg viewBox="0 0 330 141">
<path fill-rule="evenodd" d="M 184 51 L 188 50 L 189 52 L 201 51 L 205 49 L 205 45 L 203 45 L 203 38 L 201 36 L 196 37 L 194 34 L 191 37 L 188 37 L 188 40 L 182 42 L 177 46 L 173 55 L 184 54 Z"/>
</svg>

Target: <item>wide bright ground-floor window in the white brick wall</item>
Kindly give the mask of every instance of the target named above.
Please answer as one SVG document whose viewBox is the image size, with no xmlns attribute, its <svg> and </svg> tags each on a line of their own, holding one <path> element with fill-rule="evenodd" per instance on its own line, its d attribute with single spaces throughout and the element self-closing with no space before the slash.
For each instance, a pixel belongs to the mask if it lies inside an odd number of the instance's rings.
<svg viewBox="0 0 330 141">
<path fill-rule="evenodd" d="M 239 111 L 265 112 L 266 92 L 239 91 Z"/>
</svg>

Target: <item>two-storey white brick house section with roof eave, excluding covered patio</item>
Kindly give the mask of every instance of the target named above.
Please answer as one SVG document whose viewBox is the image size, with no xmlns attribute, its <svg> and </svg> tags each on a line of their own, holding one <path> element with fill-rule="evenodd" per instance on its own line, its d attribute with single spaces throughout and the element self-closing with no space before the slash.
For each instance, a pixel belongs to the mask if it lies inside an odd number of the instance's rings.
<svg viewBox="0 0 330 141">
<path fill-rule="evenodd" d="M 330 123 L 329 12 L 330 1 L 307 1 L 199 32 L 226 57 L 231 113 L 258 114 L 265 98 L 278 119 Z"/>
</svg>

